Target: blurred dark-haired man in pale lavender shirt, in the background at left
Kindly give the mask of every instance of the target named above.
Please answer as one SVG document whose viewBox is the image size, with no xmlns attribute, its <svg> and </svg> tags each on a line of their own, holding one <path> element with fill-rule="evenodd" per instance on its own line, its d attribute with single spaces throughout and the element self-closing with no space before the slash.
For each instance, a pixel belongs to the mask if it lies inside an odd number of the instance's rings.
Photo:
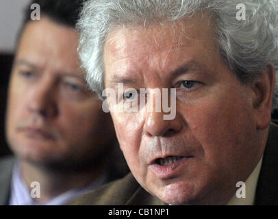
<svg viewBox="0 0 278 219">
<path fill-rule="evenodd" d="M 30 18 L 33 3 L 40 6 L 39 21 Z M 25 12 L 6 116 L 16 158 L 0 162 L 1 205 L 62 205 L 127 170 L 111 167 L 112 120 L 79 68 L 81 3 L 38 0 Z"/>
</svg>

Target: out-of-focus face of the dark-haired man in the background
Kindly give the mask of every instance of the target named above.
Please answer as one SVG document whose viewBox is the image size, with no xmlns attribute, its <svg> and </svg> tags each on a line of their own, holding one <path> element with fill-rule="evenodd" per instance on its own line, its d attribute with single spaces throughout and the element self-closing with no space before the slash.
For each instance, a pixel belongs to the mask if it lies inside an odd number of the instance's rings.
<svg viewBox="0 0 278 219">
<path fill-rule="evenodd" d="M 6 129 L 12 151 L 40 164 L 80 164 L 113 141 L 109 114 L 79 68 L 79 36 L 49 18 L 27 24 L 18 44 Z"/>
</svg>

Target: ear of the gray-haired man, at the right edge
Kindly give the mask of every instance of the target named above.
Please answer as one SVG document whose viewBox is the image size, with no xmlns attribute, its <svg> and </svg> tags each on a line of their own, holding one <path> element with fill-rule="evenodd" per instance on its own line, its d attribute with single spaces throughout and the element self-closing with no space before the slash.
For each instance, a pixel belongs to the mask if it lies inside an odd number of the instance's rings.
<svg viewBox="0 0 278 219">
<path fill-rule="evenodd" d="M 275 87 L 275 68 L 268 64 L 260 77 L 252 84 L 254 92 L 253 110 L 257 129 L 265 129 L 271 120 L 273 92 Z"/>
</svg>

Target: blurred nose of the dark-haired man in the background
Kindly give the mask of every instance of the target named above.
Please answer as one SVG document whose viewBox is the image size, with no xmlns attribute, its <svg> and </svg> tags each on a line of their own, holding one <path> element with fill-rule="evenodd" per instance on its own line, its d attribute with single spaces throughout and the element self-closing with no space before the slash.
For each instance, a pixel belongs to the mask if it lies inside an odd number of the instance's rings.
<svg viewBox="0 0 278 219">
<path fill-rule="evenodd" d="M 55 92 L 51 86 L 38 85 L 29 93 L 29 112 L 40 114 L 44 117 L 53 117 L 57 114 Z"/>
</svg>

